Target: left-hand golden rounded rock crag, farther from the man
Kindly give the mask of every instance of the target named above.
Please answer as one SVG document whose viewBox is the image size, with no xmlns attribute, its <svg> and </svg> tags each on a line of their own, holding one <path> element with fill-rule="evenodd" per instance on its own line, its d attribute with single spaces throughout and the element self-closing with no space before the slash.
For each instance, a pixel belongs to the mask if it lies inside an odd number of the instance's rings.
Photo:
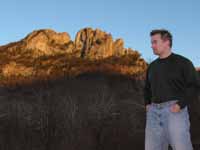
<svg viewBox="0 0 200 150">
<path fill-rule="evenodd" d="M 68 33 L 56 33 L 53 30 L 46 29 L 33 31 L 21 41 L 8 45 L 6 48 L 10 53 L 29 52 L 32 57 L 39 57 L 69 52 L 71 50 L 70 43 Z"/>
</svg>

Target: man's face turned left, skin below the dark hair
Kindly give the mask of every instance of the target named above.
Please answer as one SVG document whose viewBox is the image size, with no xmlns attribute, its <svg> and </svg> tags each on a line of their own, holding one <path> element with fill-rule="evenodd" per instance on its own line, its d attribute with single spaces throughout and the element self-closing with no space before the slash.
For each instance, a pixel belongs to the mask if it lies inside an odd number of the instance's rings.
<svg viewBox="0 0 200 150">
<path fill-rule="evenodd" d="M 169 48 L 169 40 L 163 40 L 160 34 L 155 34 L 151 36 L 151 48 L 155 55 L 161 55 Z"/>
</svg>

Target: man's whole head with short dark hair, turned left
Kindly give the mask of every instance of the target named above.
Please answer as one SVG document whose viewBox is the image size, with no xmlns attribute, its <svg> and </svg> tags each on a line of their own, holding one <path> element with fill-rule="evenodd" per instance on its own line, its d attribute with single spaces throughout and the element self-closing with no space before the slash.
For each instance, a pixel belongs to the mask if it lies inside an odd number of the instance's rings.
<svg viewBox="0 0 200 150">
<path fill-rule="evenodd" d="M 169 51 L 172 47 L 172 35 L 165 29 L 152 30 L 151 36 L 151 47 L 155 55 L 162 55 Z"/>
</svg>

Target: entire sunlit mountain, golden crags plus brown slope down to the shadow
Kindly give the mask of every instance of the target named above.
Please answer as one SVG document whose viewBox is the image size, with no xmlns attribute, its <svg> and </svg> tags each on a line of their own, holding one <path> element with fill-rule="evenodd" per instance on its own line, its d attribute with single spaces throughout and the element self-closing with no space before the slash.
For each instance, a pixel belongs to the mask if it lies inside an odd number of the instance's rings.
<svg viewBox="0 0 200 150">
<path fill-rule="evenodd" d="M 76 76 L 85 72 L 144 74 L 147 64 L 140 53 L 124 48 L 122 39 L 99 29 L 80 30 L 75 41 L 68 33 L 50 29 L 33 31 L 24 39 L 0 46 L 0 84 L 15 78 Z"/>
</svg>

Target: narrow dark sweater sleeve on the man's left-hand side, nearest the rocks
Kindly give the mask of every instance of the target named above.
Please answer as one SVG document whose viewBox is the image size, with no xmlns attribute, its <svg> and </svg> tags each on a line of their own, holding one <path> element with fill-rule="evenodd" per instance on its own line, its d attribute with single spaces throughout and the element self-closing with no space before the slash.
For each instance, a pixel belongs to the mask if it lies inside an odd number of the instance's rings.
<svg viewBox="0 0 200 150">
<path fill-rule="evenodd" d="M 145 80 L 145 86 L 144 86 L 144 104 L 145 104 L 145 106 L 151 103 L 151 97 L 152 97 L 151 85 L 149 82 L 148 73 L 149 73 L 149 67 L 147 68 L 147 71 L 146 71 L 146 80 Z"/>
</svg>

